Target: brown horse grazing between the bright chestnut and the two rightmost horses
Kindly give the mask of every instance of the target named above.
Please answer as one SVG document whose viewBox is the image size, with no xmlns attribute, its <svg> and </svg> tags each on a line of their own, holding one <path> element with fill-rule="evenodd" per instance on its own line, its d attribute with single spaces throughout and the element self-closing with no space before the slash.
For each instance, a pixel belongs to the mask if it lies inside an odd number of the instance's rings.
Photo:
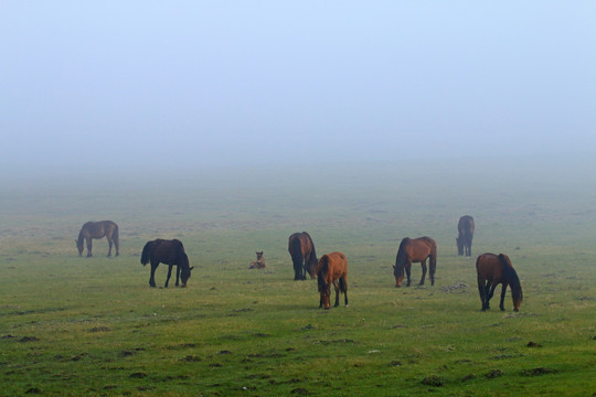
<svg viewBox="0 0 596 397">
<path fill-rule="evenodd" d="M 409 238 L 406 237 L 400 244 L 393 276 L 395 276 L 395 287 L 402 287 L 404 280 L 404 269 L 407 276 L 407 287 L 409 287 L 409 272 L 412 262 L 421 262 L 423 276 L 419 286 L 424 286 L 426 278 L 426 259 L 429 259 L 430 285 L 435 285 L 435 270 L 437 268 L 437 244 L 430 237 Z"/>
</svg>

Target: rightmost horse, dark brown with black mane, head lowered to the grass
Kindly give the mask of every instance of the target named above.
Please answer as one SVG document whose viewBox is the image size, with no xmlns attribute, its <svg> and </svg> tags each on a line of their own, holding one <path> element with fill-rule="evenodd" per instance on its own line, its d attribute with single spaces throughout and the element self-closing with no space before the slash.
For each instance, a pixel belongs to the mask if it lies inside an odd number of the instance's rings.
<svg viewBox="0 0 596 397">
<path fill-rule="evenodd" d="M 504 311 L 504 294 L 507 286 L 511 286 L 511 298 L 513 298 L 513 311 L 520 310 L 520 304 L 523 299 L 520 279 L 511 260 L 504 254 L 482 254 L 476 259 L 476 272 L 478 273 L 478 292 L 480 292 L 480 301 L 482 301 L 482 311 L 490 309 L 489 302 L 494 293 L 497 285 L 502 283 L 501 303 L 499 308 Z"/>
</svg>

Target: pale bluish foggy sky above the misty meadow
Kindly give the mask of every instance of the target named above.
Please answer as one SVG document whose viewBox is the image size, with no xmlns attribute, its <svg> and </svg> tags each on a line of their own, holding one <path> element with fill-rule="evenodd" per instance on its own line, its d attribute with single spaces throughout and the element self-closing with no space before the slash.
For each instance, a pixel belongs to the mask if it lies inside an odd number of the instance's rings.
<svg viewBox="0 0 596 397">
<path fill-rule="evenodd" d="M 0 0 L 0 168 L 596 154 L 595 1 Z"/>
</svg>

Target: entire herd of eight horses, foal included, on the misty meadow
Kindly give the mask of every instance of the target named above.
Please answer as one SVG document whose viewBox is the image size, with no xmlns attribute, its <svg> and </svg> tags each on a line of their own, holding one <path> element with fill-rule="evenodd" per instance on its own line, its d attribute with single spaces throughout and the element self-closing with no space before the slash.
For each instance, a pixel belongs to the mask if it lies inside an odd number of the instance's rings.
<svg viewBox="0 0 596 397">
<path fill-rule="evenodd" d="M 456 246 L 458 255 L 471 257 L 471 245 L 473 238 L 473 218 L 469 215 L 461 216 L 458 225 L 458 236 Z M 111 256 L 113 245 L 116 248 L 116 256 L 119 255 L 118 225 L 111 221 L 87 222 L 81 228 L 76 247 L 78 255 L 83 255 L 84 243 L 87 242 L 87 257 L 92 256 L 92 239 L 106 237 L 109 249 L 108 257 Z M 306 280 L 307 273 L 311 279 L 317 279 L 320 294 L 319 308 L 329 309 L 331 286 L 336 290 L 336 303 L 339 305 L 340 293 L 344 294 L 344 303 L 348 307 L 348 260 L 342 253 L 330 253 L 317 258 L 317 251 L 312 238 L 306 232 L 295 233 L 289 236 L 288 251 L 294 265 L 294 280 Z M 258 251 L 257 260 L 251 264 L 251 268 L 265 268 L 263 251 Z M 428 273 L 430 285 L 435 285 L 435 272 L 437 268 L 437 244 L 427 236 L 419 238 L 405 237 L 400 243 L 395 265 L 393 266 L 393 276 L 395 277 L 395 287 L 401 287 L 404 276 L 407 278 L 406 287 L 411 286 L 411 270 L 413 262 L 419 262 L 422 266 L 422 278 L 419 286 L 423 286 L 426 278 L 428 260 Z M 151 264 L 151 276 L 149 286 L 156 287 L 155 273 L 159 264 L 168 265 L 168 278 L 164 287 L 168 287 L 172 273 L 172 267 L 175 266 L 175 286 L 187 287 L 191 277 L 191 267 L 189 257 L 184 251 L 182 242 L 178 239 L 167 240 L 158 238 L 147 242 L 142 248 L 140 262 L 145 266 Z M 476 271 L 478 278 L 478 292 L 482 303 L 481 310 L 490 309 L 490 299 L 498 285 L 501 285 L 501 301 L 499 308 L 504 309 L 504 297 L 507 288 L 511 288 L 513 300 L 513 310 L 519 311 L 523 299 L 522 288 L 518 273 L 511 265 L 511 260 L 504 254 L 486 253 L 478 256 L 476 260 Z"/>
</svg>

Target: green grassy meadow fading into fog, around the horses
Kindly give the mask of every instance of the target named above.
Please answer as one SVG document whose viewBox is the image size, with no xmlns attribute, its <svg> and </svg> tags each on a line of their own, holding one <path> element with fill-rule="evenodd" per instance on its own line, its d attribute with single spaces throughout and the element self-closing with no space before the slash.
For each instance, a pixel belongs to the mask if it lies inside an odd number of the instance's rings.
<svg viewBox="0 0 596 397">
<path fill-rule="evenodd" d="M 594 163 L 421 165 L 4 175 L 0 396 L 595 396 Z M 465 214 L 472 259 L 456 255 Z M 78 257 L 92 219 L 120 226 L 119 257 L 105 239 Z M 316 281 L 292 280 L 301 230 L 347 255 L 348 308 L 320 310 Z M 414 287 L 414 264 L 396 289 L 398 243 L 422 235 L 435 286 Z M 140 251 L 158 237 L 184 243 L 188 288 L 149 288 Z M 268 267 L 248 270 L 257 250 Z M 520 312 L 509 292 L 480 312 L 485 251 L 510 256 Z"/>
</svg>

